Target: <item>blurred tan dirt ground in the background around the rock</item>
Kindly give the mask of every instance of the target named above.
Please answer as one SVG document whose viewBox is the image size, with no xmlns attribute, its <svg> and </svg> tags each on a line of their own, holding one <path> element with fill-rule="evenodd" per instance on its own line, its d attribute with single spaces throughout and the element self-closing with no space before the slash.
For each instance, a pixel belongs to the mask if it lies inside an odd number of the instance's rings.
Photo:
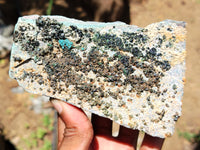
<svg viewBox="0 0 200 150">
<path fill-rule="evenodd" d="M 0 6 L 8 7 L 4 2 L 0 0 Z M 130 24 L 145 27 L 165 19 L 187 22 L 187 70 L 182 116 L 176 124 L 174 135 L 165 140 L 163 150 L 198 150 L 200 148 L 195 148 L 197 144 L 189 142 L 179 134 L 180 132 L 198 134 L 200 131 L 200 98 L 198 95 L 200 92 L 200 0 L 130 0 L 129 2 Z M 55 0 L 54 5 L 52 14 L 59 14 L 58 6 L 66 7 L 66 9 L 62 8 L 62 11 L 69 12 L 69 5 L 64 0 Z M 22 10 L 22 15 L 44 14 L 47 3 L 43 6 L 45 8 L 28 7 L 28 9 Z M 93 17 L 88 15 L 88 12 L 84 12 L 81 7 L 77 9 L 77 12 L 80 12 L 79 15 L 85 17 L 83 18 L 85 20 Z M 68 13 L 65 16 L 71 17 Z M 80 16 L 77 18 L 81 18 Z M 0 123 L 4 126 L 5 138 L 9 139 L 16 148 L 31 149 L 24 144 L 22 139 L 29 137 L 33 130 L 42 126 L 43 115 L 35 114 L 30 110 L 31 94 L 11 92 L 11 88 L 16 87 L 17 82 L 9 78 L 8 70 L 9 60 L 4 59 L 0 63 Z M 27 124 L 29 128 L 27 128 Z M 47 139 L 50 138 L 51 135 L 48 135 Z"/>
</svg>

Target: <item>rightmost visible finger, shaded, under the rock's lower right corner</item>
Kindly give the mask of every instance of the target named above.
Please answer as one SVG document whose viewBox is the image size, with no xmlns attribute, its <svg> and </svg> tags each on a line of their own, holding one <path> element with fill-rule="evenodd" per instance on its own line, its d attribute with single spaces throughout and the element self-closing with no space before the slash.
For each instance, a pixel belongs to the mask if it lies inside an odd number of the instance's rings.
<svg viewBox="0 0 200 150">
<path fill-rule="evenodd" d="M 164 139 L 145 134 L 140 150 L 160 150 Z"/>
</svg>

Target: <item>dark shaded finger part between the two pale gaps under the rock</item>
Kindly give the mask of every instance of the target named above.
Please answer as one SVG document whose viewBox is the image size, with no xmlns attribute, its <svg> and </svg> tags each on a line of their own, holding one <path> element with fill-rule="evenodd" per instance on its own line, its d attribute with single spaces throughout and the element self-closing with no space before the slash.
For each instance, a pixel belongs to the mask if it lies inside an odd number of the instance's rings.
<svg viewBox="0 0 200 150">
<path fill-rule="evenodd" d="M 138 134 L 138 130 L 133 130 L 120 126 L 118 139 L 122 142 L 132 145 L 136 149 Z"/>
</svg>

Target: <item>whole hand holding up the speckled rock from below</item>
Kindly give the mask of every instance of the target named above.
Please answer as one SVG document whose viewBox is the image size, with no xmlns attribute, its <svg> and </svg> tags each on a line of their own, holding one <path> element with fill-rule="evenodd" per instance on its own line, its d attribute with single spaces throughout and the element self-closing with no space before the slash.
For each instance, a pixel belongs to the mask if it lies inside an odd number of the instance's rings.
<svg viewBox="0 0 200 150">
<path fill-rule="evenodd" d="M 86 114 L 66 102 L 52 99 L 58 111 L 58 150 L 136 150 L 138 130 L 120 126 L 118 137 L 112 137 L 112 121 Z M 159 150 L 164 139 L 145 134 L 140 150 Z"/>
</svg>

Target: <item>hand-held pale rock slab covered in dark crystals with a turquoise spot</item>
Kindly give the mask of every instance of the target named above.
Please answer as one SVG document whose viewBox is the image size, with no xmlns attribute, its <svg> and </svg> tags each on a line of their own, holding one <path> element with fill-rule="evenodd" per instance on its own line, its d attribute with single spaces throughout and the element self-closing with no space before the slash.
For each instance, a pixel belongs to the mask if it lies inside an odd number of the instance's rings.
<svg viewBox="0 0 200 150">
<path fill-rule="evenodd" d="M 25 16 L 15 26 L 10 77 L 152 136 L 171 136 L 181 115 L 185 23 L 139 28 Z"/>
</svg>

